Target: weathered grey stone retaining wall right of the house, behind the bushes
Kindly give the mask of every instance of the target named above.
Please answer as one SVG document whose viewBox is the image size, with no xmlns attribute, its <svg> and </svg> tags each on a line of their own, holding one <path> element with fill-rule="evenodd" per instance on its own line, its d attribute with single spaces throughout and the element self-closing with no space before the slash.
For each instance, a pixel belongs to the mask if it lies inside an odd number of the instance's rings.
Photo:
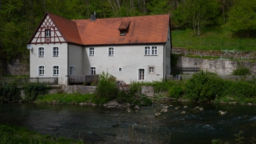
<svg viewBox="0 0 256 144">
<path fill-rule="evenodd" d="M 256 63 L 250 61 L 206 60 L 186 56 L 179 56 L 177 61 L 177 67 L 199 67 L 201 70 L 208 70 L 223 76 L 232 74 L 239 64 L 249 68 L 252 74 L 256 74 Z"/>
</svg>

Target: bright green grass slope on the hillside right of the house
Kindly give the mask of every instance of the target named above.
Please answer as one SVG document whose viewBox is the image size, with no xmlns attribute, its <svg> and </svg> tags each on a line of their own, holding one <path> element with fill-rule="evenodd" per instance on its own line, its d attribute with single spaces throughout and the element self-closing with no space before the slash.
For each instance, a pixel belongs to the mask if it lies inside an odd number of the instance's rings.
<svg viewBox="0 0 256 144">
<path fill-rule="evenodd" d="M 201 36 L 193 36 L 193 29 L 172 31 L 173 47 L 198 50 L 255 51 L 256 38 L 238 38 L 228 26 L 208 26 Z"/>
</svg>

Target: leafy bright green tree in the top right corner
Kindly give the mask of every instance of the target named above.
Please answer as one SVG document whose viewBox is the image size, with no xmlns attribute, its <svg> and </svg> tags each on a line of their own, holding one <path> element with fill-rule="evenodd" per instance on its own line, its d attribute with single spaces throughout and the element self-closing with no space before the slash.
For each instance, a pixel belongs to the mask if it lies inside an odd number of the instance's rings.
<svg viewBox="0 0 256 144">
<path fill-rule="evenodd" d="M 256 1 L 236 0 L 228 13 L 230 28 L 237 34 L 250 37 L 256 31 Z"/>
</svg>

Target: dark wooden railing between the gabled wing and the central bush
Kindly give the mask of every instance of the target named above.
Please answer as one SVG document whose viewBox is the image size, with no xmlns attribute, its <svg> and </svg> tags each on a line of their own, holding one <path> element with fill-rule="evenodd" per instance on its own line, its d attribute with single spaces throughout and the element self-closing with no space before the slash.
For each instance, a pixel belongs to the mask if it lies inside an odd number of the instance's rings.
<svg viewBox="0 0 256 144">
<path fill-rule="evenodd" d="M 98 77 L 98 75 L 70 75 L 68 83 L 96 83 Z"/>
</svg>

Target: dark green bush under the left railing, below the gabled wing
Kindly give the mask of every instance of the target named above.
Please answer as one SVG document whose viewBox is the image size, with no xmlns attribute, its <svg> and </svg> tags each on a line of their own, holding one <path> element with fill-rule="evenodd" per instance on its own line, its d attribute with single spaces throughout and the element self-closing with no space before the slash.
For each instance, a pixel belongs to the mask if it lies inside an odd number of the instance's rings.
<svg viewBox="0 0 256 144">
<path fill-rule="evenodd" d="M 44 95 L 48 92 L 47 85 L 44 83 L 28 83 L 22 86 L 25 93 L 25 101 L 32 102 L 38 95 Z"/>
</svg>

